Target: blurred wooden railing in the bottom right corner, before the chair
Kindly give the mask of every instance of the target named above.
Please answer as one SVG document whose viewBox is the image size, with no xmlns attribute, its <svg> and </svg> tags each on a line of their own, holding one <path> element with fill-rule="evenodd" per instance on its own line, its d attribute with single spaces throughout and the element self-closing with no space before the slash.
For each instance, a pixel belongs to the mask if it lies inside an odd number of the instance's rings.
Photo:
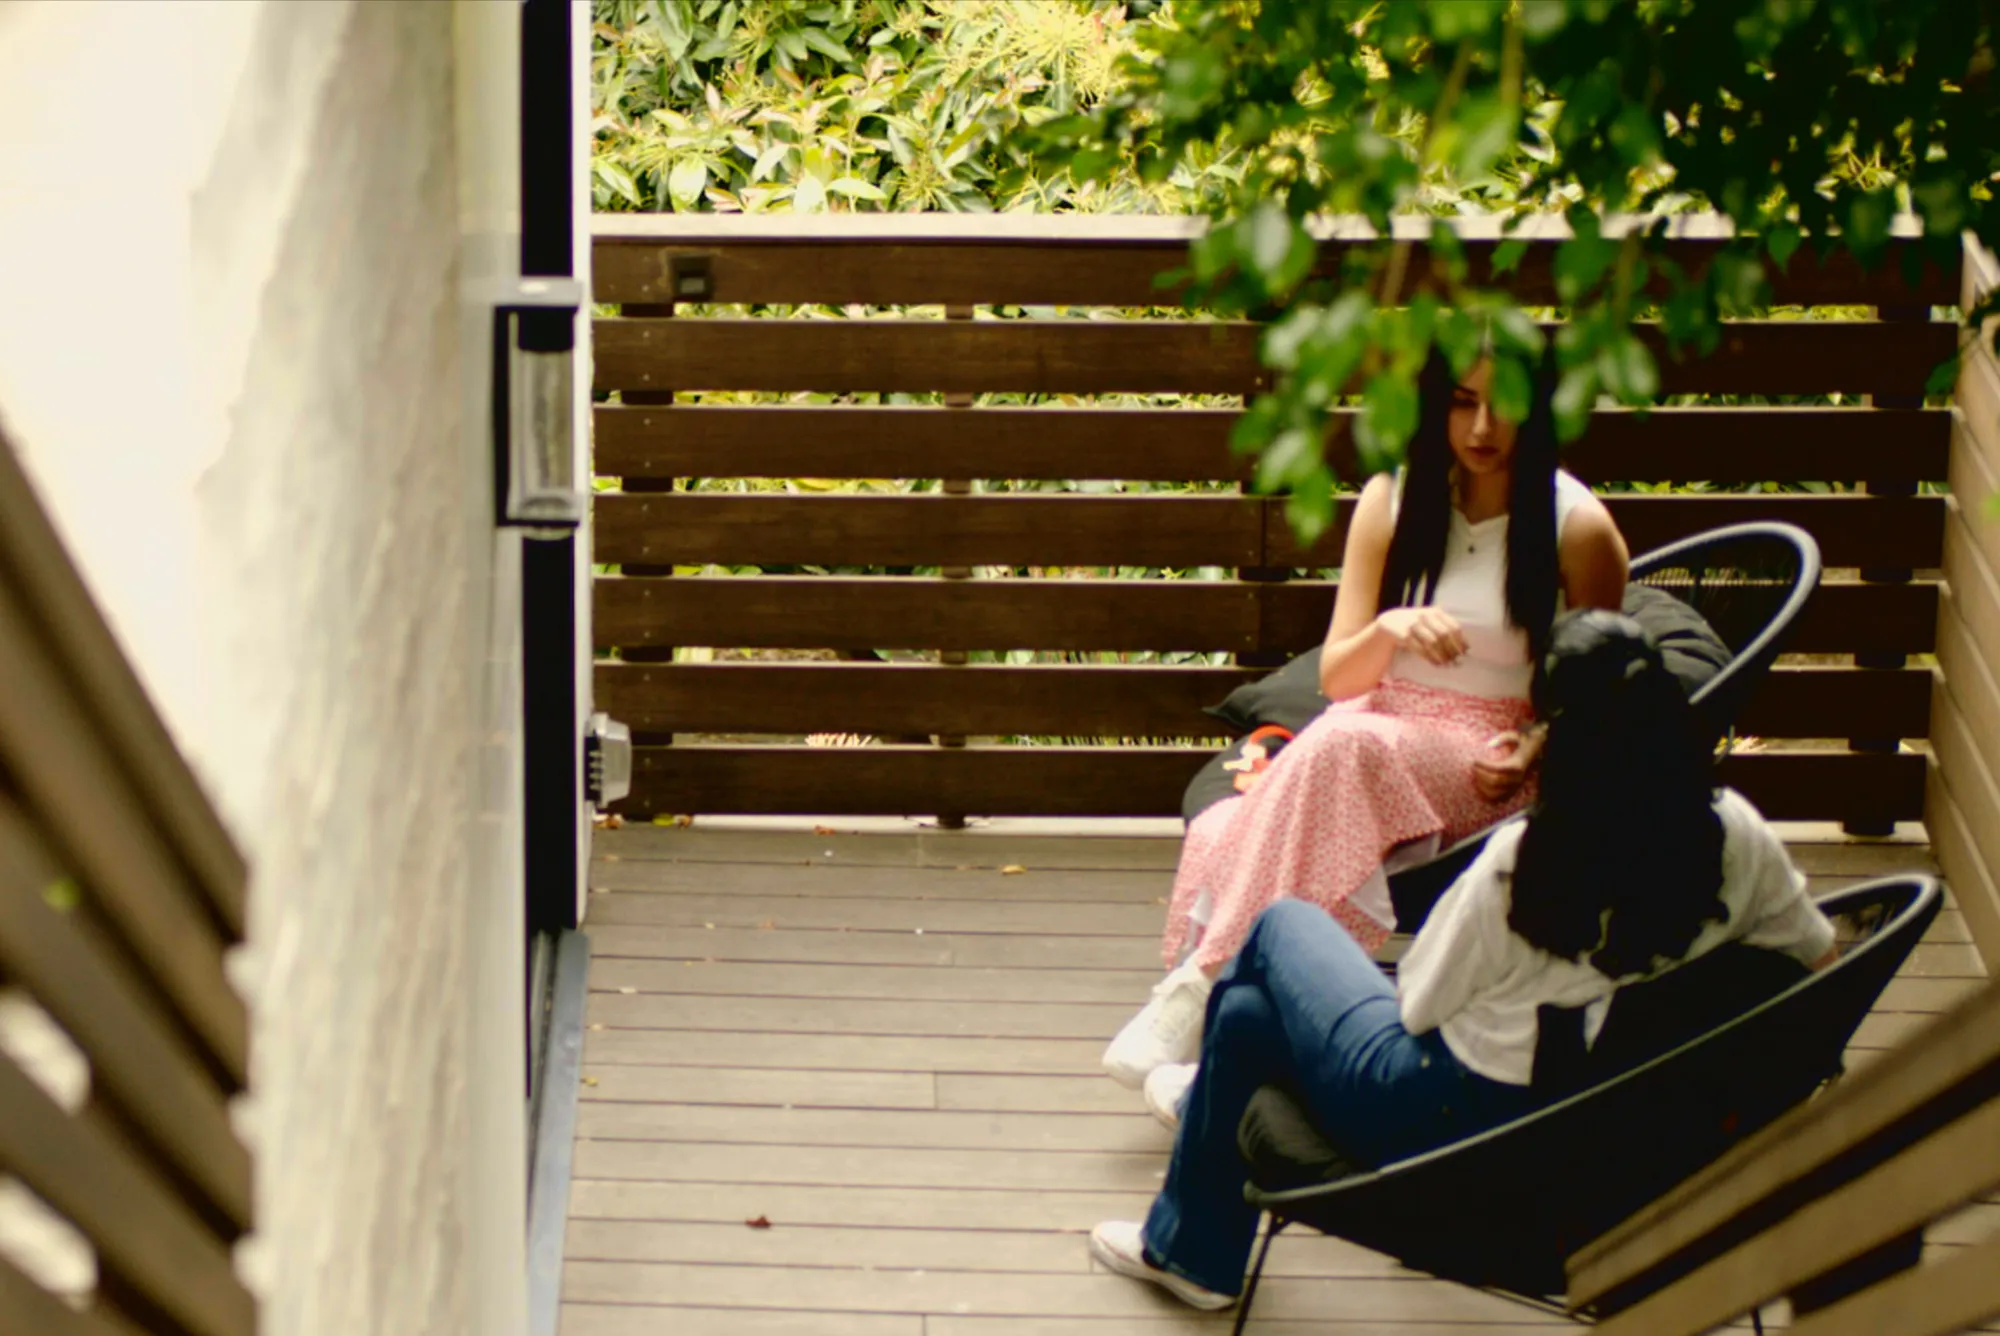
<svg viewBox="0 0 2000 1336">
<path fill-rule="evenodd" d="M 2000 1236 L 1932 1222 L 2000 1188 L 2000 984 L 1570 1260 L 1606 1336 L 1696 1336 L 1790 1296 L 1796 1336 L 1946 1336 L 2000 1314 Z"/>
</svg>

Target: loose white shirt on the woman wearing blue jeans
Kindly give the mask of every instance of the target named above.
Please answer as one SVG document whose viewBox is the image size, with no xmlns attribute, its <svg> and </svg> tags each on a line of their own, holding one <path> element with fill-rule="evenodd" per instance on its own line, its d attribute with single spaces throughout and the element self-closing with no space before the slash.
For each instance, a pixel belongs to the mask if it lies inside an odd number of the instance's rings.
<svg viewBox="0 0 2000 1336">
<path fill-rule="evenodd" d="M 1686 960 L 1748 942 L 1812 964 L 1834 946 L 1834 926 L 1806 896 L 1806 876 L 1736 790 L 1716 796 L 1722 818 L 1724 922 L 1702 924 Z M 1510 882 L 1524 822 L 1510 822 L 1444 892 L 1396 968 L 1402 1024 L 1442 1030 L 1444 1044 L 1488 1080 L 1526 1086 L 1534 1074 L 1536 1016 L 1544 1002 L 1586 1006 L 1584 1040 L 1596 1042 L 1612 980 L 1582 960 L 1550 956 L 1508 928 Z M 1672 966 L 1666 966 L 1672 968 Z"/>
</svg>

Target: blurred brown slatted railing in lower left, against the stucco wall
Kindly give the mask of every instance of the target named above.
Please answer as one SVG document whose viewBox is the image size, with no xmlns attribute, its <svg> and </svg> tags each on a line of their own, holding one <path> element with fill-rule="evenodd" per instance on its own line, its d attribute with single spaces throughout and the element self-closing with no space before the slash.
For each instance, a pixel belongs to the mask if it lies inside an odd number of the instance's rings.
<svg viewBox="0 0 2000 1336">
<path fill-rule="evenodd" d="M 0 984 L 48 1036 L 0 1056 L 0 1172 L 54 1216 L 6 1230 L 0 1330 L 256 1330 L 242 930 L 244 864 L 0 438 Z"/>
</svg>

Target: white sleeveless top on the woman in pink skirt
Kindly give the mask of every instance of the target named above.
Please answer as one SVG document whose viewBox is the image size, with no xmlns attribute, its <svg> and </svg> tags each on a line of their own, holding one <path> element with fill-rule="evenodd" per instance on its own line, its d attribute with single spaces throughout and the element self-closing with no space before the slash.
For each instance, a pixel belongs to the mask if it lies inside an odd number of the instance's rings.
<svg viewBox="0 0 2000 1336">
<path fill-rule="evenodd" d="M 1556 470 L 1556 542 L 1576 504 L 1590 488 L 1564 470 Z M 1390 512 L 1402 508 L 1402 476 L 1396 478 Z M 1384 608 L 1388 590 L 1384 590 Z M 1534 662 L 1528 632 L 1506 616 L 1506 516 L 1468 524 L 1452 508 L 1452 524 L 1444 538 L 1444 568 L 1430 606 L 1458 618 L 1466 632 L 1466 654 L 1454 664 L 1432 664 L 1410 650 L 1396 650 L 1382 676 L 1442 686 L 1470 696 L 1526 700 L 1534 682 Z M 1556 612 L 1562 612 L 1562 590 L 1556 590 Z"/>
</svg>

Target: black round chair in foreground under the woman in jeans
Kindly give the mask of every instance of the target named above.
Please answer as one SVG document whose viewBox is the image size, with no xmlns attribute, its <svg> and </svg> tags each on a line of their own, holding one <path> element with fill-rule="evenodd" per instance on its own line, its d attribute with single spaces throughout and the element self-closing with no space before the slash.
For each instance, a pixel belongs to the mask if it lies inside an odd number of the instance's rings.
<svg viewBox="0 0 2000 1336">
<path fill-rule="evenodd" d="M 1292 1224 L 1444 1278 L 1562 1294 L 1568 1254 L 1842 1070 L 1842 1050 L 1942 894 L 1920 874 L 1834 892 L 1820 900 L 1842 928 L 1832 966 L 1806 974 L 1770 952 L 1726 946 L 1620 990 L 1588 1054 L 1580 1024 L 1570 1032 L 1560 1012 L 1544 1016 L 1536 1086 L 1556 1102 L 1396 1164 L 1346 1162 L 1284 1090 L 1260 1090 L 1238 1144 L 1250 1174 L 1244 1196 L 1268 1212 L 1270 1230 L 1236 1330 L 1270 1240 Z M 1574 1052 L 1550 1062 L 1552 1046 Z M 1578 1080 L 1588 1086 L 1562 1094 Z"/>
</svg>

